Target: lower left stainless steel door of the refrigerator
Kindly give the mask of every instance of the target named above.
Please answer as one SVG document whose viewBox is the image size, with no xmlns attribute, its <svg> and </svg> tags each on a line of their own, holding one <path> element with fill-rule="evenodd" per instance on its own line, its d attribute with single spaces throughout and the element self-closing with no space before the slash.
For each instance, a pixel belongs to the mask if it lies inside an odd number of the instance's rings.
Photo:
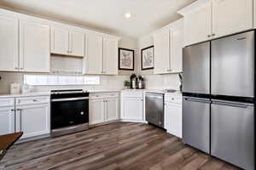
<svg viewBox="0 0 256 170">
<path fill-rule="evenodd" d="M 183 142 L 210 152 L 210 99 L 183 97 Z"/>
</svg>

